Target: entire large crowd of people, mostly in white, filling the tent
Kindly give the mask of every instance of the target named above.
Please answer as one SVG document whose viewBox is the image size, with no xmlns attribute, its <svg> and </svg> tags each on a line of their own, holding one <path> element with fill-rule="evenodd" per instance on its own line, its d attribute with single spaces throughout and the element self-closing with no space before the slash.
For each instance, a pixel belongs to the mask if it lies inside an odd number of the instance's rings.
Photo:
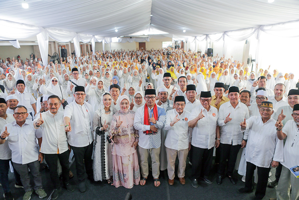
<svg viewBox="0 0 299 200">
<path fill-rule="evenodd" d="M 237 169 L 245 182 L 238 193 L 252 192 L 255 182 L 257 199 L 267 186 L 277 187 L 279 200 L 299 199 L 299 178 L 291 171 L 299 165 L 299 83 L 293 73 L 258 65 L 251 71 L 233 57 L 183 49 L 97 51 L 47 66 L 40 58 L 6 58 L 0 66 L 5 200 L 13 199 L 10 161 L 15 187 L 24 188 L 29 200 L 33 193 L 47 196 L 41 163 L 50 171 L 51 199 L 57 199 L 60 176 L 74 191 L 72 157 L 83 193 L 86 175 L 114 187 L 144 186 L 149 173 L 155 187 L 178 184 L 177 157 L 181 185 L 187 157 L 190 184 L 212 184 L 213 156 L 217 184 L 225 177 L 236 184 Z M 276 179 L 268 184 L 271 167 Z M 166 169 L 168 183 L 161 183 Z"/>
</svg>

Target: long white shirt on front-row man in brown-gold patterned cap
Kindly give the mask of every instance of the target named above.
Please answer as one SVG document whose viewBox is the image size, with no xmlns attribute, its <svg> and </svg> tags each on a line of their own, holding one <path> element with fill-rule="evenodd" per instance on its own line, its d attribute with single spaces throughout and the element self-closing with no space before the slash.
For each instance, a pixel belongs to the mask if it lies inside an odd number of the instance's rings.
<svg viewBox="0 0 299 200">
<path fill-rule="evenodd" d="M 272 160 L 283 161 L 283 141 L 277 138 L 276 120 L 270 118 L 263 123 L 261 116 L 246 119 L 244 139 L 247 140 L 245 159 L 258 167 L 269 168 Z"/>
</svg>

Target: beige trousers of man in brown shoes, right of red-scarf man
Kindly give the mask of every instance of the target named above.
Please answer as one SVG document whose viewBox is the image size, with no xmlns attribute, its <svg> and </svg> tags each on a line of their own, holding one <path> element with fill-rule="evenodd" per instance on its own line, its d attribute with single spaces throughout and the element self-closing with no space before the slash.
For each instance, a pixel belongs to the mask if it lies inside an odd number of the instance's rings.
<svg viewBox="0 0 299 200">
<path fill-rule="evenodd" d="M 188 149 L 175 150 L 166 147 L 167 154 L 167 173 L 169 179 L 174 179 L 174 168 L 176 164 L 176 156 L 179 159 L 178 177 L 183 178 L 185 176 L 186 159 L 188 155 Z"/>
</svg>

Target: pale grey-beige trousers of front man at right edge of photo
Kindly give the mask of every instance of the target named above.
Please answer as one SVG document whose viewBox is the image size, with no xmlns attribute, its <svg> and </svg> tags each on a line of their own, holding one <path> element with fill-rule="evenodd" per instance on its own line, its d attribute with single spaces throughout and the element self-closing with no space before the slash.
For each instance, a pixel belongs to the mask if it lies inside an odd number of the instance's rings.
<svg viewBox="0 0 299 200">
<path fill-rule="evenodd" d="M 278 200 L 289 200 L 292 186 L 292 200 L 299 200 L 299 178 L 296 178 L 291 171 L 282 166 L 280 178 L 277 185 L 276 197 Z"/>
</svg>

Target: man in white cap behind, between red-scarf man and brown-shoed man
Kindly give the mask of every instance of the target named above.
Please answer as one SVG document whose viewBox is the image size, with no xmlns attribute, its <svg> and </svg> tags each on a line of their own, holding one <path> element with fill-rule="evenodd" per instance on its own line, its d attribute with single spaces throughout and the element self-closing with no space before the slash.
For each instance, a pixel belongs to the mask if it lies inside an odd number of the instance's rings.
<svg viewBox="0 0 299 200">
<path fill-rule="evenodd" d="M 158 92 L 159 100 L 156 100 L 156 104 L 164 108 L 165 112 L 173 109 L 173 101 L 167 99 L 168 92 L 166 88 L 160 88 Z M 166 138 L 166 131 L 161 129 L 161 149 L 160 149 L 160 170 L 164 171 L 167 169 L 167 155 L 165 149 L 165 138 Z"/>
</svg>

